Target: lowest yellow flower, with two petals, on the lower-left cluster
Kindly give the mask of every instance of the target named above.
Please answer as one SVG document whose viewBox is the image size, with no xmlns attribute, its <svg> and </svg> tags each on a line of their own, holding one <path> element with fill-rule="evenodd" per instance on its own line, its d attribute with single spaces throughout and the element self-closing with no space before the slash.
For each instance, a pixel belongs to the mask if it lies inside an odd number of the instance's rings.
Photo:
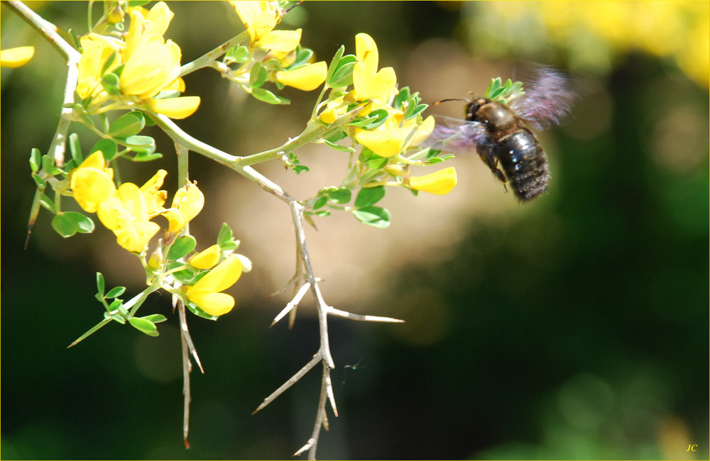
<svg viewBox="0 0 710 461">
<path fill-rule="evenodd" d="M 229 255 L 192 287 L 185 287 L 187 299 L 209 315 L 221 316 L 234 307 L 234 298 L 220 291 L 234 285 L 241 277 L 241 272 L 242 265 L 239 257 Z"/>
</svg>

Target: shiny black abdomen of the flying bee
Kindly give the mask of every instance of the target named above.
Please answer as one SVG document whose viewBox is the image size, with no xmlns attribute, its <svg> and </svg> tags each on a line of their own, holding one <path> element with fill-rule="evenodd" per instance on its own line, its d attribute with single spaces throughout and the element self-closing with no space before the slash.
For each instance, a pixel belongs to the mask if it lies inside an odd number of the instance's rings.
<svg viewBox="0 0 710 461">
<path fill-rule="evenodd" d="M 547 192 L 550 182 L 547 156 L 530 130 L 520 128 L 504 136 L 496 148 L 498 161 L 518 200 L 532 200 Z"/>
</svg>

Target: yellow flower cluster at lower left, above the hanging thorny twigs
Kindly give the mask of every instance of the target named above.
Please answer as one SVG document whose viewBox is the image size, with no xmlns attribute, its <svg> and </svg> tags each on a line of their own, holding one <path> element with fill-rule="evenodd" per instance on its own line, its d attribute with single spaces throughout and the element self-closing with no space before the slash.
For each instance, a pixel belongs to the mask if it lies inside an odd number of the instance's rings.
<svg viewBox="0 0 710 461">
<path fill-rule="evenodd" d="M 172 244 L 204 206 L 204 196 L 197 184 L 187 184 L 175 193 L 170 208 L 165 208 L 163 205 L 168 195 L 160 187 L 166 174 L 165 170 L 158 170 L 141 187 L 124 182 L 116 188 L 113 169 L 99 150 L 72 170 L 70 187 L 77 204 L 84 211 L 97 213 L 99 221 L 114 232 L 122 248 L 144 255 L 148 243 L 160 230 L 160 226 L 151 221 L 153 218 L 163 216 L 168 220 L 165 240 Z M 190 257 L 187 265 L 175 262 L 192 252 L 195 240 L 190 236 L 187 240 L 193 245 L 182 252 L 180 248 L 177 252 L 168 252 L 168 259 L 173 260 L 170 264 L 166 264 L 168 261 L 164 260 L 159 246 L 151 255 L 146 269 L 149 272 L 160 272 L 165 268 L 181 270 L 180 275 L 175 277 L 181 284 L 187 285 L 182 293 L 192 303 L 188 304 L 192 311 L 198 315 L 217 317 L 229 312 L 234 307 L 234 298 L 221 291 L 231 287 L 241 277 L 245 263 L 249 269 L 249 260 L 241 255 L 231 255 L 236 245 L 230 233 L 228 238 L 222 238 L 221 245 L 212 245 Z M 178 246 L 184 248 L 184 245 Z"/>
</svg>

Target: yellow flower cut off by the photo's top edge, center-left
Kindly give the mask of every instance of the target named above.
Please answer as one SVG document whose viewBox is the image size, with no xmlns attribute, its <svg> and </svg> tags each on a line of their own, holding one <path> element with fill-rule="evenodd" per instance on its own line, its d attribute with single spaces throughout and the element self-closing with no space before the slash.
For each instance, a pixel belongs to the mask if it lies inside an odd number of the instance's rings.
<svg viewBox="0 0 710 461">
<path fill-rule="evenodd" d="M 290 52 L 301 40 L 301 30 L 273 30 L 283 11 L 278 1 L 230 1 L 251 38 L 251 45 L 276 52 Z"/>
</svg>

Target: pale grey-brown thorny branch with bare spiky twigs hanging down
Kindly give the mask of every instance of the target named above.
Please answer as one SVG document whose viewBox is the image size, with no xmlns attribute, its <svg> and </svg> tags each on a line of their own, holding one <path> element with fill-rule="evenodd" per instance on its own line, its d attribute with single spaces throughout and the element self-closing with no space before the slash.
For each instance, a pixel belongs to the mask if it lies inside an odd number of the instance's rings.
<svg viewBox="0 0 710 461">
<path fill-rule="evenodd" d="M 73 121 L 73 109 L 72 103 L 74 101 L 74 93 L 77 85 L 77 72 L 78 72 L 78 62 L 80 60 L 80 53 L 75 50 L 69 43 L 67 43 L 64 38 L 60 35 L 60 31 L 56 26 L 45 19 L 38 16 L 31 9 L 28 9 L 21 1 L 2 1 L 2 3 L 11 9 L 18 16 L 23 18 L 24 21 L 28 22 L 33 28 L 38 30 L 38 32 L 43 35 L 58 52 L 65 57 L 67 61 L 68 74 L 67 74 L 67 84 L 65 86 L 65 100 L 62 106 L 60 123 L 58 126 L 57 133 L 53 139 L 53 143 L 50 147 L 50 154 L 55 159 L 58 165 L 63 163 L 63 155 L 65 151 L 65 142 L 67 138 L 68 128 L 70 123 Z M 182 67 L 181 75 L 193 72 L 202 67 L 209 65 L 209 62 L 217 59 L 220 55 L 224 53 L 224 50 L 229 48 L 234 43 L 239 43 L 244 40 L 244 33 L 237 35 L 228 42 L 220 45 L 206 55 L 200 57 L 198 60 L 185 65 Z M 250 165 L 254 165 L 258 162 L 264 162 L 267 160 L 273 160 L 275 158 L 283 155 L 283 152 L 290 152 L 302 145 L 311 143 L 319 138 L 322 138 L 330 130 L 338 129 L 346 123 L 352 121 L 357 112 L 356 109 L 349 113 L 345 113 L 339 116 L 334 123 L 329 124 L 327 127 L 310 127 L 307 128 L 303 133 L 298 135 L 296 138 L 288 140 L 284 145 L 264 152 L 259 152 L 254 155 L 247 157 L 239 157 L 235 155 L 230 155 L 222 150 L 207 145 L 200 140 L 192 138 L 192 136 L 181 130 L 175 123 L 173 123 L 170 118 L 155 114 L 148 113 L 149 116 L 155 121 L 155 123 L 166 133 L 170 138 L 172 138 L 175 143 L 175 149 L 178 153 L 178 163 L 180 174 L 180 182 L 187 181 L 187 152 L 192 150 L 200 155 L 209 157 L 216 162 L 219 162 L 231 170 L 241 174 L 247 179 L 258 184 L 259 187 L 268 191 L 270 194 L 278 197 L 278 199 L 285 201 L 290 207 L 293 225 L 295 228 L 296 237 L 296 270 L 294 277 L 290 282 L 284 287 L 284 289 L 278 291 L 285 291 L 290 287 L 294 289 L 293 299 L 286 304 L 285 308 L 275 317 L 272 326 L 280 321 L 287 313 L 289 314 L 289 326 L 293 326 L 293 321 L 295 320 L 295 312 L 298 304 L 302 301 L 305 294 L 310 291 L 315 304 L 317 306 L 318 312 L 318 323 L 320 330 L 320 348 L 317 350 L 313 358 L 307 362 L 293 377 L 290 377 L 284 384 L 282 384 L 278 389 L 273 391 L 271 395 L 266 397 L 261 405 L 253 412 L 256 413 L 270 404 L 276 397 L 283 394 L 283 392 L 291 387 L 295 382 L 300 380 L 307 374 L 312 368 L 314 368 L 318 362 L 322 364 L 322 381 L 320 390 L 320 399 L 318 404 L 318 409 L 315 418 L 315 424 L 313 426 L 313 431 L 311 437 L 307 440 L 305 445 L 294 453 L 294 456 L 300 455 L 301 453 L 308 451 L 309 459 L 315 459 L 316 451 L 318 446 L 318 438 L 320 436 L 321 427 L 328 429 L 328 417 L 326 406 L 327 402 L 330 403 L 331 408 L 335 416 L 338 416 L 337 406 L 335 404 L 335 396 L 333 392 L 332 381 L 330 377 L 330 371 L 335 367 L 332 354 L 330 351 L 329 343 L 329 333 L 328 333 L 328 316 L 338 316 L 343 318 L 350 318 L 351 320 L 357 321 L 377 321 L 377 322 L 391 322 L 400 323 L 403 322 L 396 318 L 381 317 L 381 316 L 369 316 L 369 315 L 359 315 L 340 309 L 336 309 L 329 306 L 323 299 L 322 293 L 318 283 L 321 279 L 315 277 L 315 272 L 311 265 L 310 256 L 308 254 L 308 249 L 306 245 L 305 232 L 303 229 L 303 212 L 304 206 L 300 204 L 297 199 L 285 192 L 278 184 L 275 184 L 263 176 L 263 174 L 253 170 Z M 184 177 L 183 177 L 184 176 Z M 31 221 L 32 222 L 32 221 Z M 182 357 L 183 357 L 183 394 L 185 395 L 184 400 L 184 416 L 183 416 L 183 437 L 185 440 L 185 447 L 190 448 L 187 443 L 187 433 L 188 433 L 188 421 L 190 416 L 190 371 L 192 370 L 192 364 L 190 362 L 190 355 L 194 357 L 197 366 L 200 367 L 202 371 L 202 365 L 200 364 L 200 359 L 197 357 L 197 352 L 195 346 L 192 344 L 192 339 L 190 338 L 190 333 L 187 329 L 187 319 L 185 318 L 185 305 L 182 302 L 178 303 L 178 316 L 180 317 L 180 340 L 182 344 Z M 80 338 L 81 339 L 81 338 Z M 78 341 L 75 341 L 77 343 Z M 74 343 L 72 343 L 73 345 Z"/>
</svg>

